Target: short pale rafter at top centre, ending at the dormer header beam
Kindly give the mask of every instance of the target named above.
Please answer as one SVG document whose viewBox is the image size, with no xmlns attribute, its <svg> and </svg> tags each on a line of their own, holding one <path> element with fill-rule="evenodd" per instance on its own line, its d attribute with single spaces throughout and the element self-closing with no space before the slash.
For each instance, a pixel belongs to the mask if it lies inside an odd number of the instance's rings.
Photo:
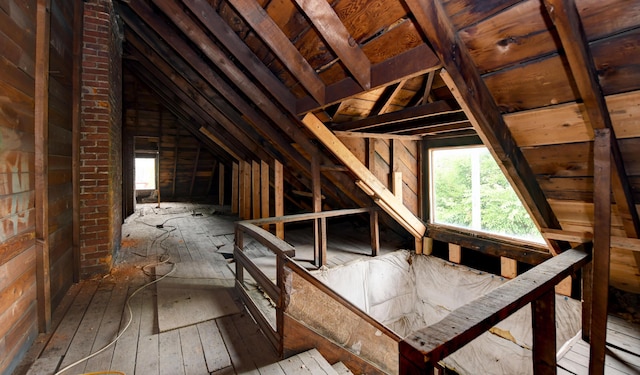
<svg viewBox="0 0 640 375">
<path fill-rule="evenodd" d="M 295 0 L 316 30 L 365 91 L 371 88 L 371 62 L 326 1 Z"/>
</svg>

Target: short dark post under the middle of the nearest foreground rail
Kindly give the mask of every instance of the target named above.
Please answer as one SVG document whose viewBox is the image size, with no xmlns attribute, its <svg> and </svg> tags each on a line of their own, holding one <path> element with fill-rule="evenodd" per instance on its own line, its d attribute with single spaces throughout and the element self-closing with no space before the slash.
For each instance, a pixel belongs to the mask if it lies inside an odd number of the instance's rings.
<svg viewBox="0 0 640 375">
<path fill-rule="evenodd" d="M 531 303 L 533 373 L 556 373 L 556 296 L 553 289 Z"/>
</svg>

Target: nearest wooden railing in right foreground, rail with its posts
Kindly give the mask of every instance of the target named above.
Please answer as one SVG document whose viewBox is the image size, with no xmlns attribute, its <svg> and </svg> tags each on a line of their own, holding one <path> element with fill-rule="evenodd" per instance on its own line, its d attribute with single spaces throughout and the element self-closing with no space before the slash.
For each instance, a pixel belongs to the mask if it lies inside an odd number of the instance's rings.
<svg viewBox="0 0 640 375">
<path fill-rule="evenodd" d="M 438 361 L 531 303 L 534 374 L 556 373 L 554 287 L 591 260 L 591 243 L 567 250 L 411 333 L 400 343 L 401 374 L 433 374 Z"/>
</svg>

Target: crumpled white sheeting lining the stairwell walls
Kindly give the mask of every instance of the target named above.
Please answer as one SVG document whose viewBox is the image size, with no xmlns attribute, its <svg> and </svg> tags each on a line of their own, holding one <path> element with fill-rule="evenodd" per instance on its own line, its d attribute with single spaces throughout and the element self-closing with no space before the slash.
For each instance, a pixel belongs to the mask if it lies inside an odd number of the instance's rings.
<svg viewBox="0 0 640 375">
<path fill-rule="evenodd" d="M 439 258 L 396 251 L 315 276 L 400 336 L 440 321 L 507 280 Z M 581 328 L 580 303 L 556 295 L 557 348 Z M 531 307 L 443 360 L 460 374 L 532 374 Z"/>
</svg>

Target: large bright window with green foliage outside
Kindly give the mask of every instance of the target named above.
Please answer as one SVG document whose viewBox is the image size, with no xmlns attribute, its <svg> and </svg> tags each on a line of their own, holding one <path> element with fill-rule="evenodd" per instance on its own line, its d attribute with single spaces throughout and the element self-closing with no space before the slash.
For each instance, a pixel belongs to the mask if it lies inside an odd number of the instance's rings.
<svg viewBox="0 0 640 375">
<path fill-rule="evenodd" d="M 434 148 L 429 160 L 432 223 L 544 243 L 486 147 Z"/>
</svg>

